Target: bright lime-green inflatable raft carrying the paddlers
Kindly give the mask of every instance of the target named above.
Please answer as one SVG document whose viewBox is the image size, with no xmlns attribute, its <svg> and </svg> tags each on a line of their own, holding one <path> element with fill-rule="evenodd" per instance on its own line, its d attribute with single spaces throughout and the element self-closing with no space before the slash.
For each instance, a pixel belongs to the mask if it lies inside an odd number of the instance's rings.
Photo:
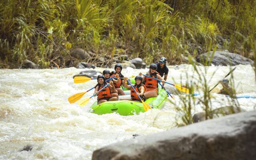
<svg viewBox="0 0 256 160">
<path fill-rule="evenodd" d="M 131 82 L 134 84 L 134 78 L 131 79 Z M 119 96 L 120 98 L 130 98 L 130 90 L 125 88 L 126 95 Z M 161 109 L 167 99 L 167 93 L 161 86 L 158 84 L 158 96 L 148 98 L 145 102 L 148 103 L 152 108 L 159 108 Z M 131 100 L 118 100 L 118 101 L 108 101 L 103 102 L 101 104 L 97 104 L 97 101 L 94 102 L 91 106 L 91 112 L 101 115 L 101 114 L 108 114 L 108 113 L 118 113 L 122 116 L 128 115 L 136 115 L 140 112 L 145 112 L 143 108 L 143 104 L 141 102 L 134 102 Z"/>
</svg>

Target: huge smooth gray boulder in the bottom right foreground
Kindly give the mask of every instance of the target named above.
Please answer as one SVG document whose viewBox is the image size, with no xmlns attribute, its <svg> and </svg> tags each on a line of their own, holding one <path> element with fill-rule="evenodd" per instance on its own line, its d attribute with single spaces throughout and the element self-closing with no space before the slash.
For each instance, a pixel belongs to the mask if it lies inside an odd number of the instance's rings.
<svg viewBox="0 0 256 160">
<path fill-rule="evenodd" d="M 92 160 L 254 160 L 255 150 L 256 110 L 111 144 Z"/>
</svg>

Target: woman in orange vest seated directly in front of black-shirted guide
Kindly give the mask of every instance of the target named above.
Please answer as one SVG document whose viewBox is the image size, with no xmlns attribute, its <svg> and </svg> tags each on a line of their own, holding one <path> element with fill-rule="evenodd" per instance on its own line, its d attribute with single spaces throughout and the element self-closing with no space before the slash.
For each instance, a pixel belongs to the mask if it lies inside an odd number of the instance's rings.
<svg viewBox="0 0 256 160">
<path fill-rule="evenodd" d="M 153 78 L 157 78 L 161 80 L 162 83 L 164 84 L 165 80 L 159 75 L 158 72 L 156 72 L 156 70 L 157 70 L 157 65 L 152 63 L 150 64 L 149 72 L 146 75 Z M 139 75 L 141 76 L 142 73 L 140 73 Z M 144 93 L 144 96 L 146 98 L 158 96 L 158 81 L 154 80 L 153 78 L 143 76 L 142 83 L 144 83 L 147 88 L 146 92 Z"/>
</svg>

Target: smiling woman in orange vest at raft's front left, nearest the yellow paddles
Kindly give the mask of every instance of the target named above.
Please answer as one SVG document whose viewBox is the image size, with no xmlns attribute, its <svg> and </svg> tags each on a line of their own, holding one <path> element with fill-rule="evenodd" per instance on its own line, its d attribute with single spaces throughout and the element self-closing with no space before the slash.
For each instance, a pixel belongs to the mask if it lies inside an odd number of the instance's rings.
<svg viewBox="0 0 256 160">
<path fill-rule="evenodd" d="M 116 97 L 111 96 L 111 90 L 114 92 L 115 86 L 113 85 L 113 82 L 110 81 L 110 85 L 108 85 L 106 88 L 104 88 L 102 91 L 98 92 L 101 88 L 107 85 L 105 82 L 105 77 L 100 74 L 97 77 L 98 84 L 95 86 L 94 94 L 96 93 L 98 95 L 98 104 L 106 102 L 106 101 L 114 101 L 118 100 Z"/>
</svg>

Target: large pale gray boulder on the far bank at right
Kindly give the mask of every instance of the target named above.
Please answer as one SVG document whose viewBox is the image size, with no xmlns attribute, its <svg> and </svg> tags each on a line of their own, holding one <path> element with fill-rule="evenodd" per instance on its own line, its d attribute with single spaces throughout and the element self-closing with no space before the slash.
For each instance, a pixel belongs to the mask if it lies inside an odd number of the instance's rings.
<svg viewBox="0 0 256 160">
<path fill-rule="evenodd" d="M 199 63 L 203 63 L 206 60 L 206 57 L 209 53 L 201 54 L 196 58 L 196 61 Z M 210 57 L 212 55 L 212 52 L 210 52 L 210 56 L 208 60 L 210 60 Z M 214 64 L 215 66 L 236 66 L 239 64 L 251 64 L 253 65 L 254 62 L 249 59 L 245 58 L 244 56 L 241 56 L 239 54 L 234 54 L 230 52 L 223 52 L 223 51 L 216 51 L 214 52 L 214 56 L 212 59 L 211 64 Z"/>
</svg>

